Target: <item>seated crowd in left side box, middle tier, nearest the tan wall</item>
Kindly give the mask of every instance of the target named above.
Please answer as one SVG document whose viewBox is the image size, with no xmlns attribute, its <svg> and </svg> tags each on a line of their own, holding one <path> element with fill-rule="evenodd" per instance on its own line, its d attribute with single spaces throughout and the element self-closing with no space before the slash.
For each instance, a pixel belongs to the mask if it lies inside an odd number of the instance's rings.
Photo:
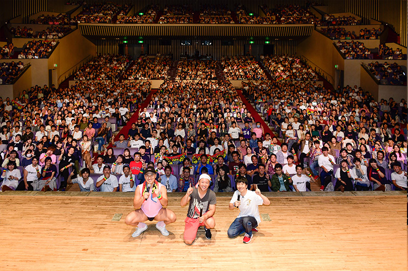
<svg viewBox="0 0 408 271">
<path fill-rule="evenodd" d="M 20 53 L 18 59 L 46 59 L 49 52 L 57 46 L 57 41 L 52 40 L 32 40 L 26 43 Z"/>
</svg>

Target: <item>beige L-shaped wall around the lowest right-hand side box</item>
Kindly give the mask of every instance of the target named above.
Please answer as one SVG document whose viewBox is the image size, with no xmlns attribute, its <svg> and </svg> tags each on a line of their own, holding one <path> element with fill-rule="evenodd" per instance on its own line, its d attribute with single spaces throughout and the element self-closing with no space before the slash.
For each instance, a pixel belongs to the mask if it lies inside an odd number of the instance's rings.
<svg viewBox="0 0 408 271">
<path fill-rule="evenodd" d="M 362 60 L 362 59 L 347 59 L 344 60 L 344 86 L 350 85 L 350 86 L 360 86 L 362 84 L 361 76 L 360 76 L 360 68 L 361 64 L 365 63 L 372 63 L 376 62 L 378 63 L 397 63 L 400 66 L 406 66 L 406 61 L 405 60 Z"/>
</svg>

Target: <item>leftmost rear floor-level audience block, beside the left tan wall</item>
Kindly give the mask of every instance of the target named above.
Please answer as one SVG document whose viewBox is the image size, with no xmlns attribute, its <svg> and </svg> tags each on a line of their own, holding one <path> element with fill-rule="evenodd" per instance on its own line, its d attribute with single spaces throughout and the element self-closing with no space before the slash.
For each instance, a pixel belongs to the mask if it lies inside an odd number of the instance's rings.
<svg viewBox="0 0 408 271">
<path fill-rule="evenodd" d="M 129 56 L 98 56 L 82 66 L 75 73 L 74 80 L 118 79 L 131 61 Z"/>
</svg>

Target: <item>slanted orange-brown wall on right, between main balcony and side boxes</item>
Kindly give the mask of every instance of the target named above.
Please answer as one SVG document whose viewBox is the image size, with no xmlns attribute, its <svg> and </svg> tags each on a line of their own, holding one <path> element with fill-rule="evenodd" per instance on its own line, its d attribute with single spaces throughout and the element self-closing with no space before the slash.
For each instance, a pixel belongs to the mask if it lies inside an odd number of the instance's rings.
<svg viewBox="0 0 408 271">
<path fill-rule="evenodd" d="M 320 70 L 331 84 L 335 84 L 335 65 L 339 65 L 339 70 L 344 70 L 344 59 L 333 45 L 333 40 L 316 30 L 310 37 L 298 43 L 296 55 L 306 59 L 313 68 Z"/>
</svg>

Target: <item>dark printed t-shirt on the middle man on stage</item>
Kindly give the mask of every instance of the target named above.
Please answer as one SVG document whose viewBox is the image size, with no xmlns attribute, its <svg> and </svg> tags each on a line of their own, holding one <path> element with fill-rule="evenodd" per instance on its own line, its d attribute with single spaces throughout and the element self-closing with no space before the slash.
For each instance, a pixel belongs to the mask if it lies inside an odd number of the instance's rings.
<svg viewBox="0 0 408 271">
<path fill-rule="evenodd" d="M 200 209 L 202 209 L 202 214 L 205 214 L 210 209 L 210 205 L 215 204 L 217 204 L 217 198 L 215 197 L 214 191 L 207 189 L 206 195 L 200 199 L 198 189 L 194 187 L 193 193 L 190 195 L 187 216 L 192 219 L 198 219 L 200 216 Z"/>
</svg>

